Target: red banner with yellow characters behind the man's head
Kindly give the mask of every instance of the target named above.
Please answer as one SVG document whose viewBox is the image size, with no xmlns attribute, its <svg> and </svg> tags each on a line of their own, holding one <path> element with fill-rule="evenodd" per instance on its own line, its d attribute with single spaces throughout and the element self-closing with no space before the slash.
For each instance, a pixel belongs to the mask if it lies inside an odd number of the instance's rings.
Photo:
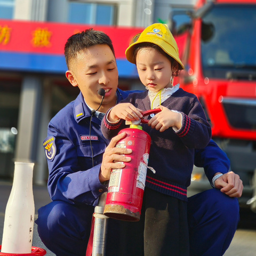
<svg viewBox="0 0 256 256">
<path fill-rule="evenodd" d="M 143 28 L 126 28 L 67 23 L 12 21 L 0 19 L 0 51 L 63 54 L 67 39 L 85 29 L 105 32 L 113 41 L 116 58 L 125 58 L 132 37 Z"/>
</svg>

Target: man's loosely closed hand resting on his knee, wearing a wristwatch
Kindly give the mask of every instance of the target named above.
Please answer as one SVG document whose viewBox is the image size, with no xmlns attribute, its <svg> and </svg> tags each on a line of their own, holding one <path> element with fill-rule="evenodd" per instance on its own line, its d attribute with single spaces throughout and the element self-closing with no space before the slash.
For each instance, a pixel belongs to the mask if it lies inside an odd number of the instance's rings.
<svg viewBox="0 0 256 256">
<path fill-rule="evenodd" d="M 217 175 L 218 173 L 215 173 Z M 215 180 L 215 188 L 230 197 L 241 197 L 243 193 L 243 181 L 238 174 L 228 172 Z"/>
</svg>

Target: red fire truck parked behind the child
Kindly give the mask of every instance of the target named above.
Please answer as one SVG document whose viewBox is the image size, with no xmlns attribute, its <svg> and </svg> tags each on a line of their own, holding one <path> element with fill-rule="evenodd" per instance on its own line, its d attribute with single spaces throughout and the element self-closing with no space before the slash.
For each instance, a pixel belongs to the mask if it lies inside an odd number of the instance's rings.
<svg viewBox="0 0 256 256">
<path fill-rule="evenodd" d="M 256 0 L 199 0 L 187 14 L 179 26 L 175 12 L 170 19 L 186 67 L 177 82 L 201 101 L 213 140 L 243 180 L 239 203 L 251 199 L 256 211 Z M 190 192 L 208 186 L 195 169 Z"/>
</svg>

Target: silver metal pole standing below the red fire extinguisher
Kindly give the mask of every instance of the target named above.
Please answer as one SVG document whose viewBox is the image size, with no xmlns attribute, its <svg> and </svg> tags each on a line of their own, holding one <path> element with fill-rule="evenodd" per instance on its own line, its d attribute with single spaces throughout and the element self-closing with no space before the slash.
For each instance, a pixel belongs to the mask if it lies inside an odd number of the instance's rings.
<svg viewBox="0 0 256 256">
<path fill-rule="evenodd" d="M 106 253 L 106 235 L 108 218 L 103 214 L 106 202 L 107 192 L 102 194 L 98 206 L 94 210 L 94 233 L 92 256 L 105 256 Z"/>
</svg>

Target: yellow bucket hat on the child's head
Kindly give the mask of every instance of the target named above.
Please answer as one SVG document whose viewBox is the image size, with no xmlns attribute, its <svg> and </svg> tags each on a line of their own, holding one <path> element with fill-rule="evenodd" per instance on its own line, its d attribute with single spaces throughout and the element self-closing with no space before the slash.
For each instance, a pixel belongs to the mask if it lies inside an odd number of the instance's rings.
<svg viewBox="0 0 256 256">
<path fill-rule="evenodd" d="M 136 55 L 134 54 L 135 49 L 138 48 L 139 44 L 142 43 L 152 43 L 158 45 L 163 52 L 165 52 L 169 57 L 176 60 L 179 64 L 179 70 L 184 69 L 184 66 L 179 58 L 178 45 L 166 25 L 162 23 L 155 23 L 147 27 L 138 37 L 138 40 L 132 43 L 125 51 L 125 55 L 128 61 L 136 64 Z M 151 46 L 150 46 L 151 47 Z M 167 55 L 165 55 L 167 57 Z M 168 58 L 168 57 L 167 57 Z M 168 58 L 170 59 L 170 58 Z M 171 61 L 171 63 L 173 63 Z"/>
</svg>

